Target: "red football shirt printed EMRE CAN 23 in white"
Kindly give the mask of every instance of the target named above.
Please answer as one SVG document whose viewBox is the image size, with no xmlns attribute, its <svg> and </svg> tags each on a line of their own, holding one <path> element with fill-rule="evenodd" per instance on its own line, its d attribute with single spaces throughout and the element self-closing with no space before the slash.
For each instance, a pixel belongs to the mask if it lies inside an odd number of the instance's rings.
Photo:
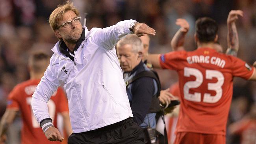
<svg viewBox="0 0 256 144">
<path fill-rule="evenodd" d="M 160 56 L 162 68 L 176 70 L 180 85 L 180 114 L 176 131 L 226 135 L 233 77 L 249 79 L 254 67 L 245 61 L 199 48 Z"/>
</svg>

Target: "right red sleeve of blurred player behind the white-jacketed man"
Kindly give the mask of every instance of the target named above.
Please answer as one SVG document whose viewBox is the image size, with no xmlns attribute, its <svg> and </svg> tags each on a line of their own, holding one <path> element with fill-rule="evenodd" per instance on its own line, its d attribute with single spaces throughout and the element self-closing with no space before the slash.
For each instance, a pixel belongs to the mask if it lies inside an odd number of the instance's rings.
<svg viewBox="0 0 256 144">
<path fill-rule="evenodd" d="M 66 94 L 63 91 L 63 89 L 61 89 L 59 87 L 57 90 L 56 96 L 58 96 L 58 100 L 59 100 L 59 105 L 57 107 L 57 113 L 63 113 L 63 112 L 69 111 L 67 97 L 66 97 Z"/>
</svg>

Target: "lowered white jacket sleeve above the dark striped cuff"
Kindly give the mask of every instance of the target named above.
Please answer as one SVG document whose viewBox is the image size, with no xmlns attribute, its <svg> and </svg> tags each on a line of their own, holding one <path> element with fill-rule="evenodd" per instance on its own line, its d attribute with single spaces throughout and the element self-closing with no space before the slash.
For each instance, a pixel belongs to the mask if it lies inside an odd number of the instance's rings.
<svg viewBox="0 0 256 144">
<path fill-rule="evenodd" d="M 31 105 L 35 118 L 39 123 L 45 118 L 50 118 L 47 102 L 61 84 L 61 82 L 56 78 L 57 66 L 58 64 L 52 65 L 51 58 L 50 65 L 46 69 L 43 78 L 32 95 Z"/>
</svg>

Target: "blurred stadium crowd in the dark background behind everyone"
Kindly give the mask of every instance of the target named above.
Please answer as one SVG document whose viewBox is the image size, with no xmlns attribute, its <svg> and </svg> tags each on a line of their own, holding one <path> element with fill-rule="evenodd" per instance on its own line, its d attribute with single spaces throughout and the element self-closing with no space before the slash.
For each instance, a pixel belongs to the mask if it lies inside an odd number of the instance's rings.
<svg viewBox="0 0 256 144">
<path fill-rule="evenodd" d="M 0 117 L 6 108 L 6 98 L 11 89 L 29 79 L 28 55 L 33 50 L 50 49 L 58 41 L 48 17 L 58 4 L 65 0 L 0 0 Z M 219 42 L 226 51 L 226 18 L 232 9 L 241 9 L 244 17 L 237 20 L 239 52 L 237 57 L 249 64 L 256 61 L 256 0 L 72 0 L 80 15 L 88 13 L 87 27 L 104 28 L 125 19 L 145 22 L 157 32 L 151 37 L 149 52 L 171 51 L 171 38 L 179 26 L 176 18 L 185 18 L 190 25 L 185 48 L 195 50 L 193 40 L 195 20 L 209 16 L 219 24 Z M 157 70 L 162 89 L 177 81 L 177 74 Z M 229 124 L 241 120 L 256 102 L 256 83 L 234 79 L 234 95 Z M 255 112 L 254 112 L 255 114 Z M 255 117 L 255 116 L 254 116 Z M 229 134 L 229 132 L 227 133 Z M 239 143 L 227 137 L 228 143 Z"/>
</svg>

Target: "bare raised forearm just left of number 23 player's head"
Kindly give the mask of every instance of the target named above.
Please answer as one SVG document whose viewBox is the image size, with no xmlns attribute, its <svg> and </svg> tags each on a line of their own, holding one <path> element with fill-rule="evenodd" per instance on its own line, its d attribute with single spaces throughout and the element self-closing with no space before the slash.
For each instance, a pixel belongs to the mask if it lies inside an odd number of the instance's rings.
<svg viewBox="0 0 256 144">
<path fill-rule="evenodd" d="M 184 39 L 189 31 L 189 23 L 183 18 L 178 18 L 176 20 L 176 25 L 181 28 L 175 33 L 171 41 L 171 48 L 173 51 L 184 50 Z"/>
</svg>

